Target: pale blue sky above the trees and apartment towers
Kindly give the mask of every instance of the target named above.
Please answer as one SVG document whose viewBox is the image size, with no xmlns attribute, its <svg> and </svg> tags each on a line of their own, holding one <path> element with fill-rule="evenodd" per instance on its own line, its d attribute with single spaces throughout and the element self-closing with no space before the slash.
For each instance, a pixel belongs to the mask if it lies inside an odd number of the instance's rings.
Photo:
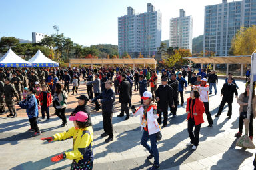
<svg viewBox="0 0 256 170">
<path fill-rule="evenodd" d="M 147 11 L 152 3 L 162 13 L 162 40 L 169 39 L 169 19 L 179 17 L 183 8 L 193 17 L 193 37 L 203 34 L 205 5 L 222 0 L 1 0 L 0 37 L 18 37 L 31 41 L 32 32 L 59 33 L 80 45 L 111 43 L 117 45 L 117 17 L 127 14 L 127 7 L 135 13 Z M 231 0 L 229 0 L 231 1 Z"/>
</svg>

